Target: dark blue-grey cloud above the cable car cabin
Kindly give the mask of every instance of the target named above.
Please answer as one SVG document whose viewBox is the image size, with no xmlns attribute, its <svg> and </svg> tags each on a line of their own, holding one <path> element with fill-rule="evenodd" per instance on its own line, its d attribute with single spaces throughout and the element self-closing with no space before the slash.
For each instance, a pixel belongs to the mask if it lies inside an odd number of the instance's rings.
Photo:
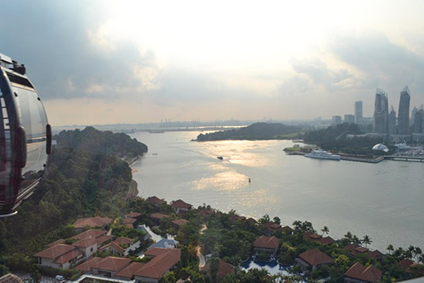
<svg viewBox="0 0 424 283">
<path fill-rule="evenodd" d="M 135 42 L 102 34 L 102 1 L 10 1 L 1 50 L 24 63 L 43 99 L 117 99 L 158 88 L 158 64 Z"/>
</svg>

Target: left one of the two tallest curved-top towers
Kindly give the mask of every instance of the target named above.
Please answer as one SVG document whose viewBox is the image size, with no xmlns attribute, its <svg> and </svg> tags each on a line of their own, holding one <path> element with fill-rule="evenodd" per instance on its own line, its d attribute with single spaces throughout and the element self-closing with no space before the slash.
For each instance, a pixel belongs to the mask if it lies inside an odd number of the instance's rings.
<svg viewBox="0 0 424 283">
<path fill-rule="evenodd" d="M 389 99 L 387 93 L 377 88 L 374 104 L 374 132 L 387 134 L 389 132 Z"/>
</svg>

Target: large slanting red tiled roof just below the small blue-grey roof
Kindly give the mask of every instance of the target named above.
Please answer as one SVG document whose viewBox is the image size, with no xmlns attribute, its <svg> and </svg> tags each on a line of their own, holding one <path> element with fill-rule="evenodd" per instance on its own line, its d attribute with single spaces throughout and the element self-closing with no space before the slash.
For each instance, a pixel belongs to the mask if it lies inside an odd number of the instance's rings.
<svg viewBox="0 0 424 283">
<path fill-rule="evenodd" d="M 167 270 L 170 270 L 179 262 L 179 257 L 181 255 L 181 250 L 179 250 L 179 248 L 151 248 L 148 251 L 153 252 L 152 250 L 158 249 L 160 253 L 146 263 L 146 265 L 134 272 L 134 275 L 159 279 Z"/>
</svg>

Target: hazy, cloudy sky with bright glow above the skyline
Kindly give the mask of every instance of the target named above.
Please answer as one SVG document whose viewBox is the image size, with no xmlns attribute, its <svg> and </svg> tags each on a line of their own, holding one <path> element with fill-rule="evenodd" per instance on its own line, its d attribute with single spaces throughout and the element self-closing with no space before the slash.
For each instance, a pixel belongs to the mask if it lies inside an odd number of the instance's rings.
<svg viewBox="0 0 424 283">
<path fill-rule="evenodd" d="M 424 1 L 5 1 L 52 125 L 372 115 L 424 103 Z"/>
</svg>

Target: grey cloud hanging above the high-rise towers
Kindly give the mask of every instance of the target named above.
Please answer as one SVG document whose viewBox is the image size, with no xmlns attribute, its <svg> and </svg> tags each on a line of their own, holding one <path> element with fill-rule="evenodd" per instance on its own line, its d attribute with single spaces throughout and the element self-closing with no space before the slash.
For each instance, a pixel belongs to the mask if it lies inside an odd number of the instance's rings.
<svg viewBox="0 0 424 283">
<path fill-rule="evenodd" d="M 389 41 L 384 33 L 370 31 L 337 35 L 329 50 L 363 74 L 365 86 L 399 93 L 404 86 L 424 88 L 424 58 Z"/>
</svg>

